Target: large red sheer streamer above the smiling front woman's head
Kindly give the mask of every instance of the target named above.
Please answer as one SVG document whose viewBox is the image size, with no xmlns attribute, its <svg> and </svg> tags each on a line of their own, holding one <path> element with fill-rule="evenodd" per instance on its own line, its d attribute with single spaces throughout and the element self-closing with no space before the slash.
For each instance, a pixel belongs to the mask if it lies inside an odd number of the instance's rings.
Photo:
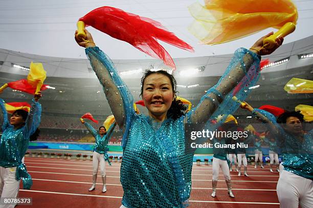
<svg viewBox="0 0 313 208">
<path fill-rule="evenodd" d="M 162 59 L 173 69 L 175 69 L 173 59 L 157 39 L 193 51 L 189 44 L 167 31 L 160 22 L 114 7 L 97 8 L 79 20 L 113 38 L 128 42 L 151 57 Z"/>
</svg>

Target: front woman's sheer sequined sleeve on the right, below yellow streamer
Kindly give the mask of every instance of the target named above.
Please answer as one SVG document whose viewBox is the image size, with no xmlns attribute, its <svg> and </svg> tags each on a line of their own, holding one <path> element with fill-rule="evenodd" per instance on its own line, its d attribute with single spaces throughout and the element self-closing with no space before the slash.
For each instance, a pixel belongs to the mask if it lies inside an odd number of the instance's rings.
<svg viewBox="0 0 313 208">
<path fill-rule="evenodd" d="M 258 81 L 259 64 L 260 56 L 245 48 L 237 49 L 218 83 L 187 113 L 184 122 L 206 123 L 207 129 L 216 129 L 227 116 L 223 116 L 214 125 L 210 121 L 216 120 L 218 115 L 233 114 L 238 109 L 240 103 L 232 98 L 236 96 L 239 100 L 244 100 L 247 97 L 251 91 L 249 87 Z"/>
</svg>

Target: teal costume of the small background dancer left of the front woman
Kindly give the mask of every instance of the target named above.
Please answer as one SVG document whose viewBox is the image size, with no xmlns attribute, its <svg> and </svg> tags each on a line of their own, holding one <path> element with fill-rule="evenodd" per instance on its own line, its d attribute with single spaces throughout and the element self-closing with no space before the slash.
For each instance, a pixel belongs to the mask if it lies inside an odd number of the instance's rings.
<svg viewBox="0 0 313 208">
<path fill-rule="evenodd" d="M 98 152 L 99 154 L 103 154 L 104 160 L 106 160 L 108 164 L 111 165 L 111 162 L 109 162 L 108 156 L 107 156 L 107 145 L 113 133 L 113 130 L 116 126 L 116 123 L 110 125 L 108 131 L 106 132 L 105 135 L 103 135 L 103 137 L 101 137 L 101 135 L 97 133 L 96 129 L 90 123 L 84 122 L 84 124 L 86 128 L 88 129 L 88 131 L 96 140 L 94 151 Z"/>
</svg>

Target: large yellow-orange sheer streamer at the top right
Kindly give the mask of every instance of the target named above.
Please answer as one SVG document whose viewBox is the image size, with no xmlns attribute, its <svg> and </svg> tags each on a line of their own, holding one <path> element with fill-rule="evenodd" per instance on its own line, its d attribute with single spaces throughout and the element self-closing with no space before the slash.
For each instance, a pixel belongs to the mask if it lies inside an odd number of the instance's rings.
<svg viewBox="0 0 313 208">
<path fill-rule="evenodd" d="M 189 12 L 195 18 L 189 31 L 204 44 L 233 41 L 267 28 L 296 24 L 298 11 L 290 0 L 206 0 L 194 3 Z"/>
</svg>

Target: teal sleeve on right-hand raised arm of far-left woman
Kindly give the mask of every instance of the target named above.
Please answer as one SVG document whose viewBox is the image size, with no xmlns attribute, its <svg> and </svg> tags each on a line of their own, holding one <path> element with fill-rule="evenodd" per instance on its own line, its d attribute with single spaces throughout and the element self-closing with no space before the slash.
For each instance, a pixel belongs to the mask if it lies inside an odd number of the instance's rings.
<svg viewBox="0 0 313 208">
<path fill-rule="evenodd" d="M 32 99 L 32 101 L 32 108 L 25 121 L 25 138 L 27 139 L 35 133 L 41 122 L 41 105 L 35 99 Z"/>
</svg>

